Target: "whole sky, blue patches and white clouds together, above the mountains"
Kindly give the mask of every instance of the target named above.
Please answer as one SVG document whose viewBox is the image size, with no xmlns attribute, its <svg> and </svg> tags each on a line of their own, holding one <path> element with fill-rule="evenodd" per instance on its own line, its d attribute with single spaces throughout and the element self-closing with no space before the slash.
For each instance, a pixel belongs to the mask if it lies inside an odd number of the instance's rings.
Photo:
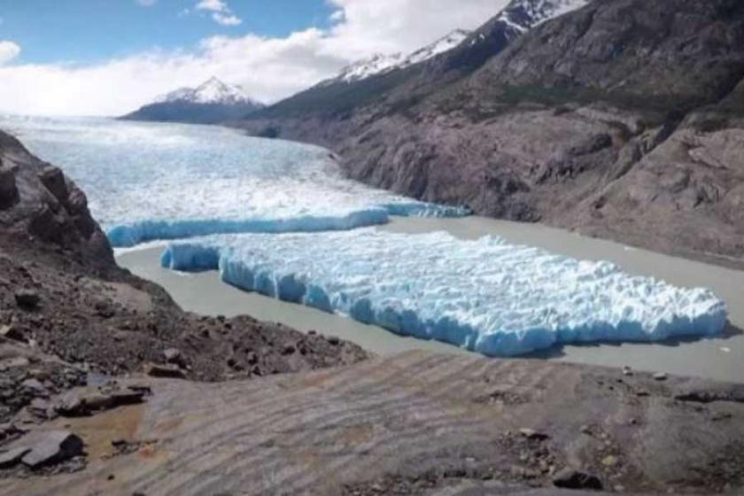
<svg viewBox="0 0 744 496">
<path fill-rule="evenodd" d="M 272 103 L 508 0 L 0 0 L 0 113 L 120 115 L 216 76 Z"/>
</svg>

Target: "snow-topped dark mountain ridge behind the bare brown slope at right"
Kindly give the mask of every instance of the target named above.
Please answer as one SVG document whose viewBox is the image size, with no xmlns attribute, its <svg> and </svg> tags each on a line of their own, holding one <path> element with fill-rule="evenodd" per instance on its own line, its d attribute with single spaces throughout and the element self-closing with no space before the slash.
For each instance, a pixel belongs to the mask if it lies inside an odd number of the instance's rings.
<svg viewBox="0 0 744 496">
<path fill-rule="evenodd" d="M 297 139 L 301 136 L 290 128 L 298 118 L 324 115 L 343 119 L 368 105 L 405 106 L 472 74 L 531 27 L 587 1 L 514 0 L 474 32 L 454 31 L 406 58 L 378 55 L 349 66 L 335 78 L 253 113 L 245 127 L 260 136 L 275 136 L 283 129 L 285 136 Z"/>
</svg>

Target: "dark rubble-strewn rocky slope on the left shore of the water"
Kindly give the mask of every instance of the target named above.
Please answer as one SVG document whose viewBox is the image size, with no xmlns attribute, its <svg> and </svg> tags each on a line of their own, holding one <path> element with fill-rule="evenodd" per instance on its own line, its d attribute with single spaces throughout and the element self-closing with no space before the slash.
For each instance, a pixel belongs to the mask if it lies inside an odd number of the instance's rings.
<svg viewBox="0 0 744 496">
<path fill-rule="evenodd" d="M 214 381 L 365 357 L 335 338 L 182 312 L 165 291 L 116 266 L 74 182 L 0 132 L 0 379 L 9 379 L 0 380 L 0 424 L 87 372 L 154 365 Z M 33 370 L 40 380 L 24 386 Z"/>
</svg>

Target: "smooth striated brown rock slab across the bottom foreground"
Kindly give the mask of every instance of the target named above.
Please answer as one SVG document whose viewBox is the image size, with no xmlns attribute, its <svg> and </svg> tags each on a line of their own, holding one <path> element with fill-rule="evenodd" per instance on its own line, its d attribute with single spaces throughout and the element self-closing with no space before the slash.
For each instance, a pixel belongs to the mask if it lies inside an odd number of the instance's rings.
<svg viewBox="0 0 744 496">
<path fill-rule="evenodd" d="M 57 422 L 72 424 L 85 441 L 86 469 L 0 480 L 0 492 L 744 489 L 743 391 L 730 384 L 659 381 L 540 360 L 406 353 L 260 381 L 149 379 L 149 385 L 143 404 Z M 134 449 L 115 454 L 125 442 Z"/>
</svg>

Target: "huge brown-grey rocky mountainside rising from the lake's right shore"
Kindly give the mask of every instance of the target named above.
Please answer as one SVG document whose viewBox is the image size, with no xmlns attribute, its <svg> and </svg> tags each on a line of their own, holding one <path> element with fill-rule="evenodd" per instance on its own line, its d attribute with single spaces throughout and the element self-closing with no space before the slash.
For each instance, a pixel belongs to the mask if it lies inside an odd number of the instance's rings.
<svg viewBox="0 0 744 496">
<path fill-rule="evenodd" d="M 594 0 L 515 25 L 545 3 L 244 127 L 329 146 L 351 177 L 415 198 L 744 266 L 744 4 Z"/>
</svg>

